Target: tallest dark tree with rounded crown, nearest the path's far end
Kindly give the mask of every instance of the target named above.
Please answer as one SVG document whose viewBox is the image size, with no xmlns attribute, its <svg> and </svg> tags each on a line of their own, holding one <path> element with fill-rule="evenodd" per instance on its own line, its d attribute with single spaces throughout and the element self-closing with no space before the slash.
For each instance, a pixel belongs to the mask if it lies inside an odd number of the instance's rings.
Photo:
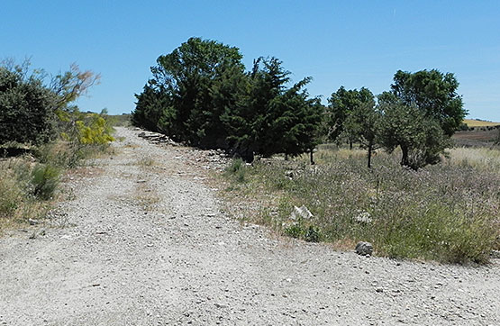
<svg viewBox="0 0 500 326">
<path fill-rule="evenodd" d="M 137 95 L 135 121 L 155 113 L 161 129 L 175 140 L 203 148 L 223 146 L 227 134 L 220 116 L 236 102 L 233 94 L 244 77 L 241 58 L 237 48 L 200 38 L 159 56 L 142 93 L 150 94 Z"/>
</svg>

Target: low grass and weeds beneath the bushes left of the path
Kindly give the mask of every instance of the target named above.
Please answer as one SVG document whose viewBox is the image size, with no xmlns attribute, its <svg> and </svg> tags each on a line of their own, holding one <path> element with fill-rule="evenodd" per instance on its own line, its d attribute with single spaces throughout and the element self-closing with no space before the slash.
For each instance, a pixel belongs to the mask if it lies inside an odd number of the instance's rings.
<svg viewBox="0 0 500 326">
<path fill-rule="evenodd" d="M 0 233 L 29 219 L 42 219 L 59 196 L 59 177 L 85 158 L 108 153 L 108 145 L 58 140 L 15 158 L 0 160 Z"/>
</svg>

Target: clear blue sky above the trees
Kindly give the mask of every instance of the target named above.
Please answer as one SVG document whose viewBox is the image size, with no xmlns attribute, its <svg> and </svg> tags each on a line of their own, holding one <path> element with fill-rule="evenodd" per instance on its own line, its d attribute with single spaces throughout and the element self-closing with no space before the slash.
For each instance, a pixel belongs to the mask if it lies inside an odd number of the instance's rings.
<svg viewBox="0 0 500 326">
<path fill-rule="evenodd" d="M 387 90 L 397 69 L 458 78 L 469 117 L 500 122 L 500 1 L 2 0 L 0 59 L 72 62 L 102 76 L 78 105 L 130 113 L 161 54 L 189 37 L 275 56 L 323 102 L 340 86 Z"/>
</svg>

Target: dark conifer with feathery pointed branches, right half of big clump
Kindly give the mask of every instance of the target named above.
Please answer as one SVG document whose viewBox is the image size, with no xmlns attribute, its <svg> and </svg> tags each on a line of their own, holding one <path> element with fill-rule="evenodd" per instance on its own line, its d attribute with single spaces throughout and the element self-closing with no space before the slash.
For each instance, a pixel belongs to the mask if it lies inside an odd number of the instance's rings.
<svg viewBox="0 0 500 326">
<path fill-rule="evenodd" d="M 288 158 L 316 146 L 323 105 L 304 89 L 310 77 L 287 88 L 289 74 L 279 59 L 254 61 L 246 94 L 223 116 L 233 152 L 241 158 L 251 161 L 255 153 L 285 153 Z"/>
</svg>

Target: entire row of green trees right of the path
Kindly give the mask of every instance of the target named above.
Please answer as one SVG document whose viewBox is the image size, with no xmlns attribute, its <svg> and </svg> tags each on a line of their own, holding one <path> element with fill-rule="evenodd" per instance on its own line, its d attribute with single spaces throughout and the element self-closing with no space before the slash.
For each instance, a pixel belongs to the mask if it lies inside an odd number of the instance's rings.
<svg viewBox="0 0 500 326">
<path fill-rule="evenodd" d="M 367 88 L 343 86 L 323 105 L 305 77 L 290 83 L 277 58 L 255 59 L 245 71 L 240 50 L 191 38 L 157 59 L 136 95 L 132 123 L 203 149 L 254 155 L 311 153 L 324 141 L 359 143 L 373 150 L 402 149 L 402 165 L 439 160 L 466 112 L 453 74 L 436 69 L 397 71 L 391 90 L 377 98 Z"/>
</svg>

